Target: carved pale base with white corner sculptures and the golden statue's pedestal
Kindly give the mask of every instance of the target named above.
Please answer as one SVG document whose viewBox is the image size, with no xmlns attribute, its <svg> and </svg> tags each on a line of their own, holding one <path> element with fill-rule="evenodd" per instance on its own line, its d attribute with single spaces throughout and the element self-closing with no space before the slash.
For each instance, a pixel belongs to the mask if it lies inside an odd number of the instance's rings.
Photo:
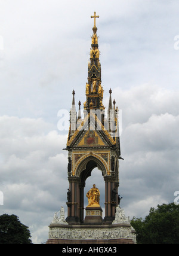
<svg viewBox="0 0 179 256">
<path fill-rule="evenodd" d="M 49 225 L 47 244 L 121 244 L 136 243 L 135 230 L 132 228 L 129 217 L 125 217 L 124 209 L 116 208 L 115 220 L 112 224 L 103 224 L 102 209 L 88 206 L 84 224 L 69 225 L 62 217 L 54 215 Z M 61 211 L 63 213 L 63 211 Z M 60 221 L 62 219 L 62 221 Z"/>
</svg>

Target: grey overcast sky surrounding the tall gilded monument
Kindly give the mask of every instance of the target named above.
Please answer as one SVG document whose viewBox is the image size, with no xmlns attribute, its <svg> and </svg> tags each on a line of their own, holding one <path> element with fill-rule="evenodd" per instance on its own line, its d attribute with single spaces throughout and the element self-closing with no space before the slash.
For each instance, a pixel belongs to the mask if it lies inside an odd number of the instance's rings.
<svg viewBox="0 0 179 256">
<path fill-rule="evenodd" d="M 121 207 L 145 217 L 179 190 L 178 0 L 0 0 L 0 215 L 16 214 L 34 243 L 67 211 L 68 131 L 57 113 L 73 89 L 76 109 L 85 101 L 94 11 L 104 105 L 112 88 L 122 109 Z M 103 195 L 99 170 L 85 189 L 94 180 Z"/>
</svg>

